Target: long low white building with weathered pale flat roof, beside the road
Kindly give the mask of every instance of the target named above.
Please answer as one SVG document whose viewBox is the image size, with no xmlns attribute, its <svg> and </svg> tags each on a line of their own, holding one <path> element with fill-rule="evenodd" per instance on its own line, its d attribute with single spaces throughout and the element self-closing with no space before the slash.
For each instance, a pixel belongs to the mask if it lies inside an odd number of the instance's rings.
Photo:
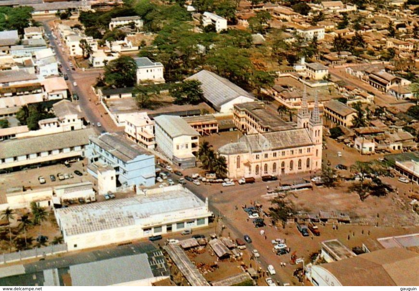
<svg viewBox="0 0 419 291">
<path fill-rule="evenodd" d="M 147 189 L 136 197 L 56 209 L 68 250 L 130 242 L 208 225 L 208 202 L 181 185 Z"/>
</svg>

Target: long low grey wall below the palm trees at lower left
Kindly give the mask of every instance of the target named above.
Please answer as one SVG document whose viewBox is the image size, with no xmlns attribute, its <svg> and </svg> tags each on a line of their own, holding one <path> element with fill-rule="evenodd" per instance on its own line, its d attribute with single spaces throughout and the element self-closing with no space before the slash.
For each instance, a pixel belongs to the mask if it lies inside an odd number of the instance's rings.
<svg viewBox="0 0 419 291">
<path fill-rule="evenodd" d="M 67 244 L 49 245 L 42 248 L 34 248 L 31 250 L 19 250 L 16 253 L 3 253 L 1 263 L 11 263 L 32 258 L 44 258 L 47 255 L 55 255 L 58 253 L 66 253 Z"/>
</svg>

